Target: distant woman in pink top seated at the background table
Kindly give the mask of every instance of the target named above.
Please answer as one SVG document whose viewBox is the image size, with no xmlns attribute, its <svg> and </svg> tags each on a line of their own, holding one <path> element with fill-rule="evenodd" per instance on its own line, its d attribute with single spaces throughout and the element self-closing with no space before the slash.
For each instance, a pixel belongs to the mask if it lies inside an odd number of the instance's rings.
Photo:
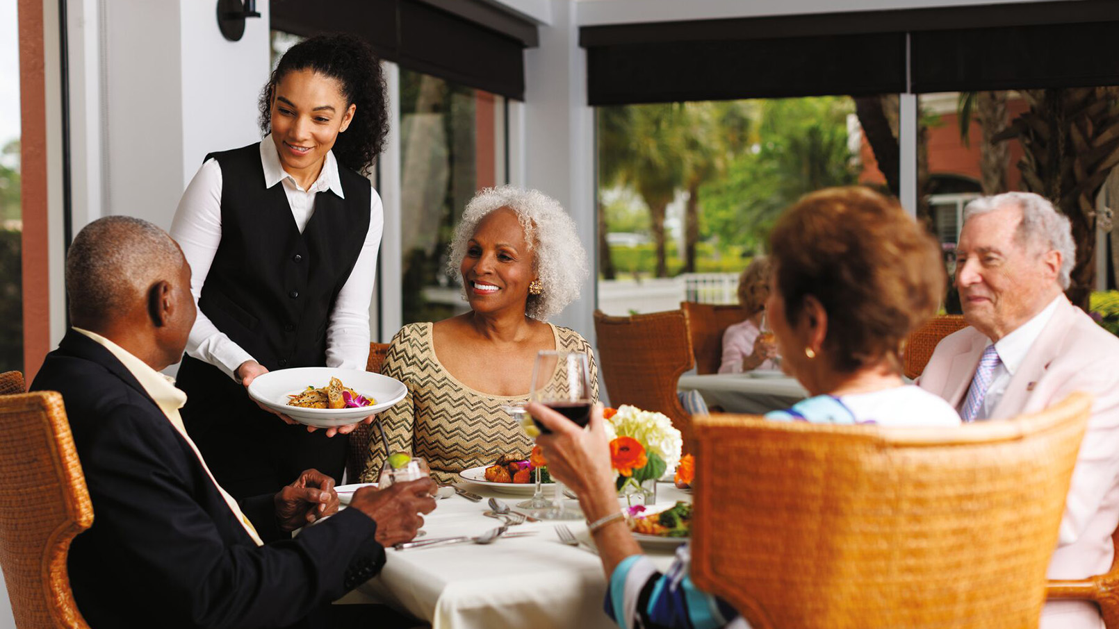
<svg viewBox="0 0 1119 629">
<path fill-rule="evenodd" d="M 739 304 L 745 318 L 723 332 L 723 363 L 720 373 L 742 373 L 755 369 L 775 370 L 777 343 L 762 334 L 769 276 L 773 265 L 758 256 L 739 277 Z"/>
</svg>

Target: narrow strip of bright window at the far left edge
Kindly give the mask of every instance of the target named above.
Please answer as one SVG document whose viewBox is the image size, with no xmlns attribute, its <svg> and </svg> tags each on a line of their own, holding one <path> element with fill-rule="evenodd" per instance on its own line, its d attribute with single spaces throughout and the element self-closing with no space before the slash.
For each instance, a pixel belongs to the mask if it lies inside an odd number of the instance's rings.
<svg viewBox="0 0 1119 629">
<path fill-rule="evenodd" d="M 23 370 L 18 25 L 16 2 L 0 3 L 0 372 Z"/>
</svg>

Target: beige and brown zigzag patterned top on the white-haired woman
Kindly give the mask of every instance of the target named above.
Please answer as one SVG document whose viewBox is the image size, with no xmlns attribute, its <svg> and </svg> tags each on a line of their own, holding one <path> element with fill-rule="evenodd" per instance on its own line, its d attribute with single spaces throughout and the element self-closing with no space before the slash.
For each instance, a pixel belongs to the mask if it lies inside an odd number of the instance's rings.
<svg viewBox="0 0 1119 629">
<path fill-rule="evenodd" d="M 599 399 L 599 369 L 591 344 L 577 332 L 552 326 L 555 347 L 585 352 L 590 356 L 591 389 Z M 431 323 L 405 325 L 393 337 L 380 372 L 403 382 L 407 395 L 379 414 L 394 451 L 427 459 L 432 476 L 440 483 L 454 480 L 463 469 L 490 465 L 504 454 L 528 458 L 533 441 L 520 426 L 501 410 L 524 395 L 490 395 L 476 391 L 448 372 L 435 358 Z M 566 387 L 557 370 L 549 387 Z M 376 436 L 369 439 L 363 483 L 376 482 L 385 460 L 384 446 Z"/>
</svg>

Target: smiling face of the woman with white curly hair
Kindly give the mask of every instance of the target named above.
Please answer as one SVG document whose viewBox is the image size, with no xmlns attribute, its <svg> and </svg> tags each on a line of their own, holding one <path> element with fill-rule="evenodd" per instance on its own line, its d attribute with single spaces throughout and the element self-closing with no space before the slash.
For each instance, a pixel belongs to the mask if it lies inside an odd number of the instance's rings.
<svg viewBox="0 0 1119 629">
<path fill-rule="evenodd" d="M 509 307 L 524 313 L 536 277 L 533 259 L 516 212 L 499 208 L 486 215 L 467 241 L 460 267 L 470 307 L 483 314 Z"/>
</svg>

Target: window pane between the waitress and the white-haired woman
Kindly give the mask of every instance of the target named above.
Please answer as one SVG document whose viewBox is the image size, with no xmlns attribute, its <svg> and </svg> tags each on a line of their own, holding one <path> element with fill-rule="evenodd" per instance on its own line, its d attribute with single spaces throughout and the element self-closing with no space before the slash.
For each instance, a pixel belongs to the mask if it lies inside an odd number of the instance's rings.
<svg viewBox="0 0 1119 629">
<path fill-rule="evenodd" d="M 403 322 L 466 312 L 446 267 L 454 226 L 470 198 L 507 181 L 505 99 L 401 69 Z"/>
</svg>

